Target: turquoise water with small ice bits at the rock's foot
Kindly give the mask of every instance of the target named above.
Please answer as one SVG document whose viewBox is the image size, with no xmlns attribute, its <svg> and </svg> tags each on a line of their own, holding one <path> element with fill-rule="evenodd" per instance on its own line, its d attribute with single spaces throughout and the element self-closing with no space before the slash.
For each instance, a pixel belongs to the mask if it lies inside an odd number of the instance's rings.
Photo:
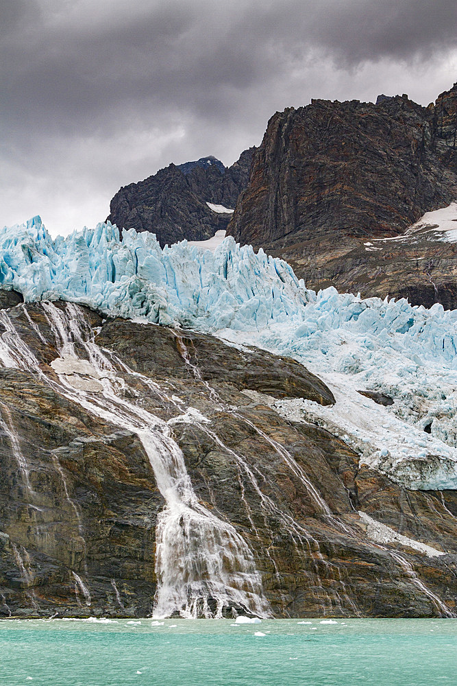
<svg viewBox="0 0 457 686">
<path fill-rule="evenodd" d="M 457 683 L 457 619 L 5 620 L 8 686 L 434 686 Z M 262 632 L 264 636 L 256 636 Z"/>
</svg>

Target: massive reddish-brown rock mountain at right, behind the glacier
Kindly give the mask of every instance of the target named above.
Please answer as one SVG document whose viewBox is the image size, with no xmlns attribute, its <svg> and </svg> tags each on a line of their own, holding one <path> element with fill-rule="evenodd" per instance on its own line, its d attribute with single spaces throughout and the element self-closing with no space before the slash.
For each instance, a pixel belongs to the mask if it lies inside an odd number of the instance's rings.
<svg viewBox="0 0 457 686">
<path fill-rule="evenodd" d="M 456 108 L 457 84 L 428 108 L 397 95 L 276 113 L 227 233 L 283 257 L 308 287 L 456 307 L 454 246 L 392 244 L 378 263 L 363 245 L 456 200 Z"/>
</svg>

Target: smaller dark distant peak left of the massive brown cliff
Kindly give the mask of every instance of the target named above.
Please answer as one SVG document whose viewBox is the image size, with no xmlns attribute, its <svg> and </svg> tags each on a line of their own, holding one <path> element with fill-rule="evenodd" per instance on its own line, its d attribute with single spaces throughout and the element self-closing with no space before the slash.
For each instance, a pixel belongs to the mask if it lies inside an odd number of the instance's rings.
<svg viewBox="0 0 457 686">
<path fill-rule="evenodd" d="M 184 238 L 206 240 L 227 228 L 231 216 L 207 203 L 234 209 L 247 185 L 254 150 L 245 150 L 228 168 L 210 156 L 160 169 L 121 188 L 111 200 L 108 220 L 119 228 L 155 233 L 162 247 Z"/>
</svg>

